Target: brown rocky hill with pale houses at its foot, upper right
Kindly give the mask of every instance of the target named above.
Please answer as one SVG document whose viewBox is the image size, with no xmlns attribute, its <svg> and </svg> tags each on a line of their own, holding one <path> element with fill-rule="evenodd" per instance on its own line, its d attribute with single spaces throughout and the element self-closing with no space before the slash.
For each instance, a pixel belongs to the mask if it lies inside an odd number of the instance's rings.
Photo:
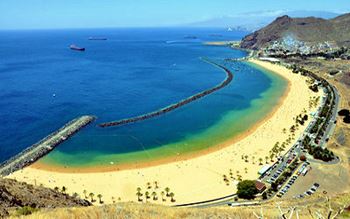
<svg viewBox="0 0 350 219">
<path fill-rule="evenodd" d="M 244 37 L 241 47 L 261 49 L 285 38 L 308 43 L 330 42 L 337 46 L 350 46 L 350 13 L 329 20 L 282 16 Z"/>
</svg>

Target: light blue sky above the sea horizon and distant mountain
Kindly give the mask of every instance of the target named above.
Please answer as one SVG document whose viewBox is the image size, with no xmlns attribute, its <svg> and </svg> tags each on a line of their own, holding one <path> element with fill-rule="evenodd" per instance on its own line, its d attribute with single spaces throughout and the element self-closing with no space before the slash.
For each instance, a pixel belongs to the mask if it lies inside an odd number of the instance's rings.
<svg viewBox="0 0 350 219">
<path fill-rule="evenodd" d="M 349 0 L 0 0 L 0 29 L 154 27 L 249 12 L 350 11 Z"/>
</svg>

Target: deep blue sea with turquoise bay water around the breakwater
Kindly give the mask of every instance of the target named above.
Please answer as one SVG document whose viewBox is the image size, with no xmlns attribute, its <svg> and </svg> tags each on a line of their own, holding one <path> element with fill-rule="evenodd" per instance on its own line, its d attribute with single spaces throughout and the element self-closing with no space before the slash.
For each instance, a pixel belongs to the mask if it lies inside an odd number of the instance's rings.
<svg viewBox="0 0 350 219">
<path fill-rule="evenodd" d="M 244 131 L 244 125 L 240 128 L 242 111 L 259 111 L 262 105 L 252 109 L 252 102 L 263 98 L 273 85 L 279 93 L 285 85 L 258 68 L 225 61 L 246 52 L 203 44 L 239 40 L 244 34 L 180 28 L 0 32 L 0 162 L 86 114 L 97 116 L 96 123 L 61 144 L 44 161 L 67 166 L 104 164 L 110 162 L 101 161 L 106 156 L 172 144 L 184 151 L 181 142 L 187 145 L 203 133 L 218 143 L 230 135 L 215 135 L 221 133 L 217 125 L 229 114 L 231 119 L 236 115 L 232 120 L 236 123 L 230 123 L 235 130 Z M 89 37 L 108 40 L 89 41 Z M 86 51 L 70 50 L 71 44 Z M 96 126 L 157 110 L 225 79 L 221 69 L 200 57 L 230 68 L 233 82 L 161 117 L 120 127 Z M 277 101 L 273 93 L 265 98 Z M 258 111 L 262 115 L 268 110 Z M 72 161 L 72 157 L 79 159 Z M 111 158 L 118 162 L 120 157 L 116 159 Z"/>
</svg>

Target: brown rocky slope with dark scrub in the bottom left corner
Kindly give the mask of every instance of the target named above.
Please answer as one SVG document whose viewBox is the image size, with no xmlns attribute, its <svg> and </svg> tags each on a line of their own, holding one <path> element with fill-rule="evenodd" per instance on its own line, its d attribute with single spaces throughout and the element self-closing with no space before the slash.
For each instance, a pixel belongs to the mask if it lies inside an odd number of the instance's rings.
<svg viewBox="0 0 350 219">
<path fill-rule="evenodd" d="M 88 201 L 52 189 L 0 178 L 0 218 L 22 208 L 35 210 L 89 205 Z"/>
</svg>

